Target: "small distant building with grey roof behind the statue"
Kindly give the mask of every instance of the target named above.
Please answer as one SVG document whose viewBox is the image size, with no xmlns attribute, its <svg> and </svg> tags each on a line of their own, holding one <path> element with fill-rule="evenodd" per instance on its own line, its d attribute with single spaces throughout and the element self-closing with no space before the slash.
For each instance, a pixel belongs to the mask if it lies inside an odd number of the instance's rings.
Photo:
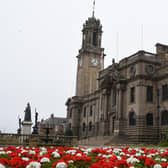
<svg viewBox="0 0 168 168">
<path fill-rule="evenodd" d="M 63 135 L 65 133 L 66 118 L 54 117 L 53 114 L 46 119 L 42 120 L 39 124 L 39 134 L 46 135 L 47 129 L 50 136 Z"/>
</svg>

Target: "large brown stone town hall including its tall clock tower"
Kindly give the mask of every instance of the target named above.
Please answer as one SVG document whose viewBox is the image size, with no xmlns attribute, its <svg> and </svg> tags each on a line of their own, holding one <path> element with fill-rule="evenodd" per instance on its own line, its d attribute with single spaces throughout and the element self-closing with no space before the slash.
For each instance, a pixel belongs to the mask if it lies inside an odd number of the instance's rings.
<svg viewBox="0 0 168 168">
<path fill-rule="evenodd" d="M 156 53 L 113 59 L 104 69 L 101 39 L 102 25 L 93 15 L 82 29 L 76 95 L 66 102 L 67 127 L 79 139 L 159 142 L 168 127 L 168 46 L 158 43 Z"/>
</svg>

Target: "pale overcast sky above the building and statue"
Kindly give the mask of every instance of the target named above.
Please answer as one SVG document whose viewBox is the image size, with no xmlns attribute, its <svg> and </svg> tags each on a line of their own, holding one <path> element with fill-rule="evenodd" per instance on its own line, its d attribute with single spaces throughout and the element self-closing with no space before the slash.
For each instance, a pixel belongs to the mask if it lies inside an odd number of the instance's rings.
<svg viewBox="0 0 168 168">
<path fill-rule="evenodd" d="M 39 120 L 65 117 L 75 94 L 76 55 L 92 0 L 0 0 L 0 130 L 16 132 L 27 102 Z M 96 0 L 105 67 L 168 45 L 167 0 Z"/>
</svg>

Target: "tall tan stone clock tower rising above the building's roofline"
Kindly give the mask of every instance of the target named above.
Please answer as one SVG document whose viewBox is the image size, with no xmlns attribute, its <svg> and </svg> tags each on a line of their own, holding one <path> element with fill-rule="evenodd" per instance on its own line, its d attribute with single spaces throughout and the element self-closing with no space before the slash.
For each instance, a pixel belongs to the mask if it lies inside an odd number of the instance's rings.
<svg viewBox="0 0 168 168">
<path fill-rule="evenodd" d="M 98 89 L 98 73 L 104 69 L 101 40 L 102 25 L 93 15 L 83 24 L 82 47 L 77 56 L 76 96 L 85 96 Z"/>
</svg>

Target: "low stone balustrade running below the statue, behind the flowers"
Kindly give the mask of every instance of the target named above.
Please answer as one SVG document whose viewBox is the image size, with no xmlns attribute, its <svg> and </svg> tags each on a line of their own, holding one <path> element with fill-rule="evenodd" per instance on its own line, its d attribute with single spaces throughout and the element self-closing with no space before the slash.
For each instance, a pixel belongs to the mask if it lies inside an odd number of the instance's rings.
<svg viewBox="0 0 168 168">
<path fill-rule="evenodd" d="M 0 134 L 0 146 L 76 146 L 78 139 L 76 136 L 42 136 L 25 134 Z"/>
</svg>

